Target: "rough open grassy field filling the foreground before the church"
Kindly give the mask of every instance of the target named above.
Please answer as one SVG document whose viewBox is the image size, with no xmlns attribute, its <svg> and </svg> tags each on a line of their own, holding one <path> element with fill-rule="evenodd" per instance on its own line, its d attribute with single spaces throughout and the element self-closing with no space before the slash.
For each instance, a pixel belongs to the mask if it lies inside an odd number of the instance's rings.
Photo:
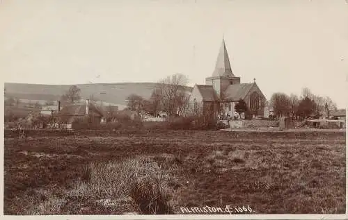
<svg viewBox="0 0 348 220">
<path fill-rule="evenodd" d="M 145 176 L 161 180 L 159 214 L 206 205 L 345 213 L 342 131 L 88 131 L 6 137 L 4 146 L 4 214 L 146 213 L 145 182 L 134 182 Z"/>
</svg>

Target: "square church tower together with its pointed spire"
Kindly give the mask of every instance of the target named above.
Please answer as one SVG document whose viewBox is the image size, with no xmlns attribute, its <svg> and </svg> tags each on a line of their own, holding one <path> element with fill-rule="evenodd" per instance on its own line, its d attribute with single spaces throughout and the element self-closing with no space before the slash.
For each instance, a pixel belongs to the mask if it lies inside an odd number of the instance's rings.
<svg viewBox="0 0 348 220">
<path fill-rule="evenodd" d="M 205 85 L 212 85 L 219 99 L 223 99 L 223 91 L 226 90 L 228 85 L 233 84 L 240 84 L 240 77 L 232 73 L 230 58 L 223 39 L 214 72 L 212 76 L 205 78 Z"/>
</svg>

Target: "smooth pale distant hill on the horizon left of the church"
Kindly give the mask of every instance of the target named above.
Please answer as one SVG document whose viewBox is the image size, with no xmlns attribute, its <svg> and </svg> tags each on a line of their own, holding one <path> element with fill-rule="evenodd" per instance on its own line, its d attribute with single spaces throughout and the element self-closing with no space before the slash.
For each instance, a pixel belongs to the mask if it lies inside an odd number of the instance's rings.
<svg viewBox="0 0 348 220">
<path fill-rule="evenodd" d="M 93 83 L 79 84 L 81 98 L 88 99 L 93 95 L 95 99 L 107 103 L 126 105 L 127 96 L 138 94 L 149 99 L 157 83 Z M 65 94 L 71 85 L 44 85 L 26 83 L 5 83 L 6 96 L 17 99 L 56 101 Z M 187 87 L 191 90 L 191 87 Z M 105 93 L 105 94 L 100 94 Z"/>
</svg>

